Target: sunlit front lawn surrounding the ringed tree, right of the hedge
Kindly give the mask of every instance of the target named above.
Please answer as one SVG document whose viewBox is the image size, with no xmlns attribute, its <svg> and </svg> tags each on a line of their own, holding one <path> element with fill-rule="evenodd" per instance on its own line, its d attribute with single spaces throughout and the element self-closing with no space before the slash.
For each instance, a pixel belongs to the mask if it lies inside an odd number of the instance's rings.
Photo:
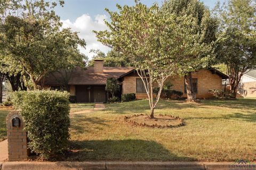
<svg viewBox="0 0 256 170">
<path fill-rule="evenodd" d="M 186 126 L 132 126 L 124 115 L 148 113 L 148 101 L 106 104 L 103 111 L 71 117 L 67 160 L 234 161 L 255 160 L 256 99 L 161 100 L 155 114 L 185 118 Z"/>
</svg>

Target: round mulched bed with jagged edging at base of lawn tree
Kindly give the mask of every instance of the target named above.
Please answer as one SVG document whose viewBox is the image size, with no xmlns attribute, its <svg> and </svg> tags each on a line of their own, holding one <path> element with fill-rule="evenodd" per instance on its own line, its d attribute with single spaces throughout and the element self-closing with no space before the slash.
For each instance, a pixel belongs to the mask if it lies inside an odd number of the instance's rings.
<svg viewBox="0 0 256 170">
<path fill-rule="evenodd" d="M 124 121 L 132 125 L 145 126 L 150 128 L 176 128 L 185 125 L 185 122 L 182 118 L 166 114 L 155 115 L 154 118 L 150 118 L 147 114 L 124 116 Z"/>
</svg>

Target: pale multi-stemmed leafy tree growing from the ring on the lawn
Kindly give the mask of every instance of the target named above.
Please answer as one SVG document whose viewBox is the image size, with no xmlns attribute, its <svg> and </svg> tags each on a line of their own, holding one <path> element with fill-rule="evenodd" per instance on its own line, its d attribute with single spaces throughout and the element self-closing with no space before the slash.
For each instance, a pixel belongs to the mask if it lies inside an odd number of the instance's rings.
<svg viewBox="0 0 256 170">
<path fill-rule="evenodd" d="M 118 12 L 107 9 L 111 19 L 111 22 L 106 21 L 109 30 L 94 32 L 101 43 L 121 52 L 137 70 L 153 118 L 165 80 L 183 73 L 182 67 L 190 61 L 189 56 L 209 47 L 200 44 L 201 37 L 194 28 L 196 20 L 191 16 L 166 15 L 159 11 L 157 4 L 147 7 L 137 1 L 134 6 L 117 7 Z M 159 86 L 156 99 L 153 96 L 155 83 Z"/>
</svg>

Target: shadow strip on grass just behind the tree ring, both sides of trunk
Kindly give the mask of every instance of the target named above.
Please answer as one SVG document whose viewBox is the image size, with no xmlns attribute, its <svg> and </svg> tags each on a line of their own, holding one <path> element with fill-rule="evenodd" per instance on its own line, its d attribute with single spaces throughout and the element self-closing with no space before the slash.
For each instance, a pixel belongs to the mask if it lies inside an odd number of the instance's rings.
<svg viewBox="0 0 256 170">
<path fill-rule="evenodd" d="M 129 101 L 125 103 L 107 104 L 107 108 L 103 112 L 111 112 L 114 114 L 127 114 L 127 113 L 149 113 L 150 108 L 147 99 Z M 156 106 L 157 109 L 183 109 L 183 108 L 197 108 L 200 106 L 198 103 L 186 103 L 183 100 L 160 100 Z"/>
</svg>

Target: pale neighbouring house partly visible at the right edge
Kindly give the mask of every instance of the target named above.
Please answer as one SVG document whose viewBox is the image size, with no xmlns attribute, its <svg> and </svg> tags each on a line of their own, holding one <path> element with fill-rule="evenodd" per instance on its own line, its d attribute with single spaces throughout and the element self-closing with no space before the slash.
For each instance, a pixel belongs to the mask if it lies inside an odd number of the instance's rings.
<svg viewBox="0 0 256 170">
<path fill-rule="evenodd" d="M 242 76 L 237 93 L 246 97 L 256 97 L 256 70 L 251 70 Z"/>
</svg>

